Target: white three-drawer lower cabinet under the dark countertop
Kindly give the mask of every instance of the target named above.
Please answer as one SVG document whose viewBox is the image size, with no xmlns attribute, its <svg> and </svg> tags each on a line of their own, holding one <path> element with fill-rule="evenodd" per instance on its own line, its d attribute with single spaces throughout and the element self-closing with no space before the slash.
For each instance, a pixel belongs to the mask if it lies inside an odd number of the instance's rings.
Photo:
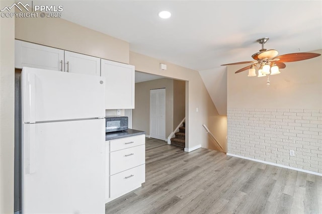
<svg viewBox="0 0 322 214">
<path fill-rule="evenodd" d="M 145 135 L 107 141 L 105 152 L 105 202 L 109 202 L 145 182 Z"/>
</svg>

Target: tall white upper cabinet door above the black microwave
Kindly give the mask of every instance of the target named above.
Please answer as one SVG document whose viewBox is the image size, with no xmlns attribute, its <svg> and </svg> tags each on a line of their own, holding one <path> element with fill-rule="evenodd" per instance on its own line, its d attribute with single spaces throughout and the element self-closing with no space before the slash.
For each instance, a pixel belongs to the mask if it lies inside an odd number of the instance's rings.
<svg viewBox="0 0 322 214">
<path fill-rule="evenodd" d="M 101 61 L 101 76 L 106 78 L 106 109 L 134 109 L 134 66 Z"/>
</svg>

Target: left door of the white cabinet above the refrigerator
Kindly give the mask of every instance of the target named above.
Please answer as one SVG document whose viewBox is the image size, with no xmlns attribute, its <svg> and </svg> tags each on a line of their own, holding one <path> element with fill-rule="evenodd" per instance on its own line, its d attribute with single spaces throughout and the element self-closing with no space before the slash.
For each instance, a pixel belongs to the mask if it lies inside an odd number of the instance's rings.
<svg viewBox="0 0 322 214">
<path fill-rule="evenodd" d="M 64 51 L 43 45 L 15 40 L 15 67 L 63 71 Z"/>
</svg>

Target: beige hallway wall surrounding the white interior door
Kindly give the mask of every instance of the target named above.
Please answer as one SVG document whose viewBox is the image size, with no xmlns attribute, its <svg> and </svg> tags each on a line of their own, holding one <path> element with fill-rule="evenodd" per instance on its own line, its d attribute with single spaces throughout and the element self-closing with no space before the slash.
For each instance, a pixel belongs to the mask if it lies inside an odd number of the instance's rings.
<svg viewBox="0 0 322 214">
<path fill-rule="evenodd" d="M 150 89 L 166 88 L 166 138 L 173 132 L 173 79 L 162 78 L 135 83 L 135 109 L 133 110 L 133 129 L 150 135 Z"/>
</svg>

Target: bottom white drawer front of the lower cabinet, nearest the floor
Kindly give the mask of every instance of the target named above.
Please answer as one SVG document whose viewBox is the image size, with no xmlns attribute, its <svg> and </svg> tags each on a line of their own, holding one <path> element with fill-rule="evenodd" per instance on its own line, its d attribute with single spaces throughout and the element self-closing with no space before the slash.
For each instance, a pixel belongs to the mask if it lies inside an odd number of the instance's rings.
<svg viewBox="0 0 322 214">
<path fill-rule="evenodd" d="M 145 164 L 120 172 L 110 177 L 111 198 L 121 196 L 145 182 Z"/>
</svg>

